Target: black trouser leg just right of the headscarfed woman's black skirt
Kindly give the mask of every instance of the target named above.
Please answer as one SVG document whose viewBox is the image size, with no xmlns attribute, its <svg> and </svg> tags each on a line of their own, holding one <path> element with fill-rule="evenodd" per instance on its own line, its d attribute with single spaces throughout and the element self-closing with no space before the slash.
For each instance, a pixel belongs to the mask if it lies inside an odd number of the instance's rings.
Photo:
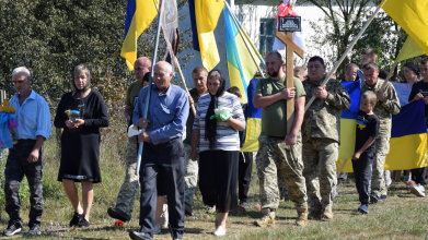
<svg viewBox="0 0 428 240">
<path fill-rule="evenodd" d="M 253 170 L 253 153 L 239 153 L 238 164 L 238 197 L 241 202 L 248 200 L 251 172 Z M 245 161 L 244 161 L 245 159 Z"/>
</svg>

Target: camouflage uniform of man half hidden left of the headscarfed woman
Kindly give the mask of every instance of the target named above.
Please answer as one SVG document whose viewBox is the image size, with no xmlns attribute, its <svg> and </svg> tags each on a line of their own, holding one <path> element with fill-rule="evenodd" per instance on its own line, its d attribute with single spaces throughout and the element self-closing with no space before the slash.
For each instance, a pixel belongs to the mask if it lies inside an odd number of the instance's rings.
<svg viewBox="0 0 428 240">
<path fill-rule="evenodd" d="M 190 97 L 194 100 L 195 108 L 199 100 L 199 93 L 196 88 L 192 88 L 189 91 Z M 186 122 L 186 140 L 184 140 L 184 148 L 187 153 L 186 157 L 186 173 L 184 176 L 184 202 L 190 206 L 193 206 L 194 195 L 198 183 L 198 160 L 194 161 L 190 159 L 192 155 L 192 131 L 193 131 L 193 123 L 195 121 L 195 116 L 193 111 L 190 110 L 188 112 L 188 119 Z M 199 158 L 199 151 L 197 157 Z"/>
</svg>

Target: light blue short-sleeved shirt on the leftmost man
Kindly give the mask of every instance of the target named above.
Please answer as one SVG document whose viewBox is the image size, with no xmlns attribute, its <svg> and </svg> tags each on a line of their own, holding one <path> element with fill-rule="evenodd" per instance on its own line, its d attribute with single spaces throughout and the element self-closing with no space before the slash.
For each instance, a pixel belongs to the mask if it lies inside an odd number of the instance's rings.
<svg viewBox="0 0 428 240">
<path fill-rule="evenodd" d="M 36 94 L 33 89 L 30 96 L 20 106 L 19 94 L 10 100 L 16 110 L 15 120 L 18 127 L 13 128 L 15 140 L 36 140 L 42 135 L 47 140 L 50 135 L 50 111 L 45 98 Z"/>
</svg>

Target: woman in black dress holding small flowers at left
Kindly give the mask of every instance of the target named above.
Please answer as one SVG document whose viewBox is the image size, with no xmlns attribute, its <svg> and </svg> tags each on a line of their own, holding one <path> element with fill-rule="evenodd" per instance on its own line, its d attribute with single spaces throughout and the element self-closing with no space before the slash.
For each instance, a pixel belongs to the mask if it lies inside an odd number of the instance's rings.
<svg viewBox="0 0 428 240">
<path fill-rule="evenodd" d="M 70 227 L 89 227 L 92 183 L 101 182 L 100 128 L 108 127 L 108 112 L 101 94 L 90 88 L 91 73 L 85 65 L 74 68 L 72 84 L 74 91 L 62 96 L 54 121 L 56 128 L 63 128 L 58 181 L 74 208 Z M 82 184 L 83 207 L 74 182 Z"/>
</svg>

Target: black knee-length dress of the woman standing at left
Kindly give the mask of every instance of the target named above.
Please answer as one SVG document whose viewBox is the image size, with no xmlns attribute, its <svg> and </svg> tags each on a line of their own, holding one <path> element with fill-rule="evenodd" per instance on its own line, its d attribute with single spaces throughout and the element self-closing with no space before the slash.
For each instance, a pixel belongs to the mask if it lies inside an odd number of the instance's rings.
<svg viewBox="0 0 428 240">
<path fill-rule="evenodd" d="M 80 110 L 84 124 L 78 129 L 68 129 L 69 117 L 66 110 Z M 91 91 L 86 97 L 76 99 L 72 93 L 62 95 L 57 108 L 54 124 L 63 128 L 61 136 L 61 163 L 58 181 L 70 179 L 101 182 L 100 172 L 100 129 L 108 127 L 108 112 L 99 92 Z"/>
</svg>

